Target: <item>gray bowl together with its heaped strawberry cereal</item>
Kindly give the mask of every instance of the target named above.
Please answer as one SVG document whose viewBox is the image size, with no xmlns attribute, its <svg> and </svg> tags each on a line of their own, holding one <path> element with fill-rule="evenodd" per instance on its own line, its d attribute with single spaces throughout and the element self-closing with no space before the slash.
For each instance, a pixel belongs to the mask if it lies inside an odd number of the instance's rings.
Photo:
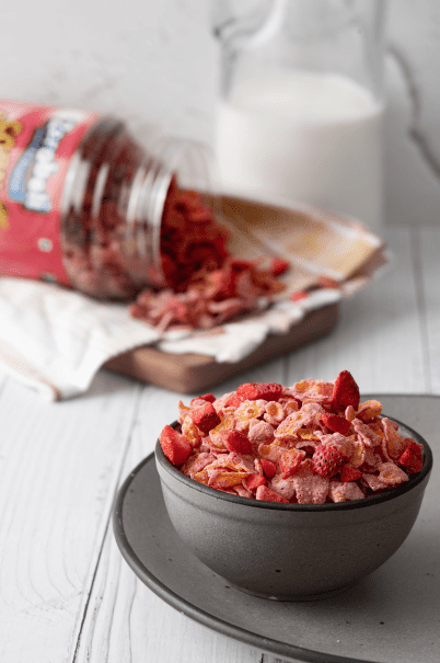
<svg viewBox="0 0 440 663">
<path fill-rule="evenodd" d="M 432 467 L 427 442 L 361 402 L 352 376 L 252 382 L 178 405 L 155 462 L 190 551 L 239 590 L 329 596 L 402 546 Z"/>
</svg>

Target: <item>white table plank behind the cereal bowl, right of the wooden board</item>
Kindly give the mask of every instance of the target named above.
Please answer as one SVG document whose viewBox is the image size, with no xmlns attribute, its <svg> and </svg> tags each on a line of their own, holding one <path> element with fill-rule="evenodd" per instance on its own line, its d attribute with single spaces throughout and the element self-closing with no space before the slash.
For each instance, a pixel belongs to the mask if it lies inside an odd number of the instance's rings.
<svg viewBox="0 0 440 663">
<path fill-rule="evenodd" d="M 394 255 L 389 271 L 340 305 L 333 334 L 290 355 L 289 384 L 333 380 L 347 369 L 364 393 L 427 392 L 410 231 L 389 229 L 385 239 Z"/>
</svg>

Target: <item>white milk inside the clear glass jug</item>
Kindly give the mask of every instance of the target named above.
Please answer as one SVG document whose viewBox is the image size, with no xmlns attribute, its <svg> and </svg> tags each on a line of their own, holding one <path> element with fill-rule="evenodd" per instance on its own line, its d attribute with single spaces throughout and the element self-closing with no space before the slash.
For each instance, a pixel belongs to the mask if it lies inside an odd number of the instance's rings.
<svg viewBox="0 0 440 663">
<path fill-rule="evenodd" d="M 220 183 L 382 221 L 383 107 L 339 75 L 277 72 L 240 87 L 217 124 Z"/>
</svg>

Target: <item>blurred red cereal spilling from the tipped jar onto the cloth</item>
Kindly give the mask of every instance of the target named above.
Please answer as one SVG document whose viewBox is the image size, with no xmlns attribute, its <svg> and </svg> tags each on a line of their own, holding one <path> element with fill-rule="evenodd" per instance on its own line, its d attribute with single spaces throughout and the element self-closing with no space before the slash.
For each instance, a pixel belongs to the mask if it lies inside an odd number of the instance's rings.
<svg viewBox="0 0 440 663">
<path fill-rule="evenodd" d="M 170 287 L 144 288 L 130 305 L 134 318 L 159 331 L 211 329 L 258 309 L 262 297 L 285 289 L 278 281 L 289 264 L 274 259 L 239 260 L 228 250 L 229 233 L 200 194 L 182 191 L 173 180 L 161 226 L 162 270 Z"/>
</svg>

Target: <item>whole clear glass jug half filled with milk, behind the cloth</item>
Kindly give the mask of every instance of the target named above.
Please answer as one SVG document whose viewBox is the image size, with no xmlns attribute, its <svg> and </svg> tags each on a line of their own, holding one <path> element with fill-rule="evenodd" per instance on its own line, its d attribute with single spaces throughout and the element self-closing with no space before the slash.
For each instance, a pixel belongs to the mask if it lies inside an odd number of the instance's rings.
<svg viewBox="0 0 440 663">
<path fill-rule="evenodd" d="M 223 190 L 382 222 L 385 0 L 215 0 Z"/>
</svg>

